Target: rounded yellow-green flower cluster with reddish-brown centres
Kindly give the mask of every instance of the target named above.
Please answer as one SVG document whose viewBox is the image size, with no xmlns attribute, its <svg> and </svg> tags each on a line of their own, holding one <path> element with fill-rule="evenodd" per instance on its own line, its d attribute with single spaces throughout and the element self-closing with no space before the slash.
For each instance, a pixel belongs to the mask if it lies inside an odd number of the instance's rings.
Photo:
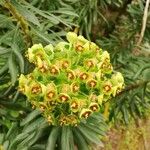
<svg viewBox="0 0 150 150">
<path fill-rule="evenodd" d="M 49 124 L 75 126 L 118 94 L 124 79 L 113 71 L 107 51 L 73 32 L 67 40 L 28 49 L 35 69 L 20 76 L 19 89 Z"/>
</svg>

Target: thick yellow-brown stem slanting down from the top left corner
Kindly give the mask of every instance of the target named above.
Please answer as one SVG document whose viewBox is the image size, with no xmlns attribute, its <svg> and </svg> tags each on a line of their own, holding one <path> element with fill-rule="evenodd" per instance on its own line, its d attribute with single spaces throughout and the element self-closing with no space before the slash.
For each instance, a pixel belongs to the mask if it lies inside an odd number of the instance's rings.
<svg viewBox="0 0 150 150">
<path fill-rule="evenodd" d="M 32 40 L 29 34 L 30 31 L 29 31 L 29 26 L 28 26 L 27 21 L 25 20 L 23 16 L 19 14 L 16 8 L 8 0 L 5 0 L 4 7 L 7 8 L 12 14 L 12 16 L 17 20 L 17 22 L 20 23 L 21 30 L 24 33 L 24 39 L 25 39 L 26 45 L 27 47 L 30 47 L 32 45 Z"/>
</svg>

